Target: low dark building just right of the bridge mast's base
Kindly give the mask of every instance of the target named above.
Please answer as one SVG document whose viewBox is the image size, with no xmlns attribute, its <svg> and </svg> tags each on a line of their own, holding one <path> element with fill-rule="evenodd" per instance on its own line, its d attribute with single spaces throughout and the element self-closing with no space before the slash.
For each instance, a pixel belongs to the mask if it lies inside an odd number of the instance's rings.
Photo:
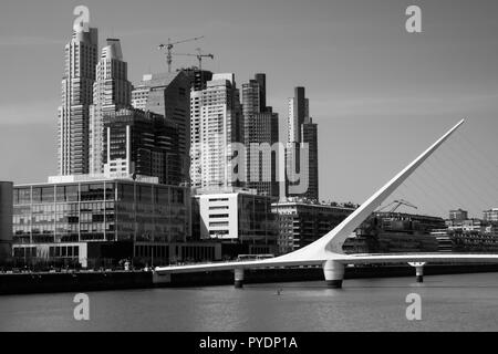
<svg viewBox="0 0 498 354">
<path fill-rule="evenodd" d="M 437 252 L 433 231 L 445 227 L 442 218 L 401 212 L 375 212 L 344 242 L 346 253 Z"/>
</svg>

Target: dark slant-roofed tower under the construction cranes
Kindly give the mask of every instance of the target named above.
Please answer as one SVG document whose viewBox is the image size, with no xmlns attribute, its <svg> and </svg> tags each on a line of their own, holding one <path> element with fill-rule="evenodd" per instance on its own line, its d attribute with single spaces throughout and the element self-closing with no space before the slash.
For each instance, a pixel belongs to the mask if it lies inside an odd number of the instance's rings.
<svg viewBox="0 0 498 354">
<path fill-rule="evenodd" d="M 190 81 L 179 71 L 144 75 L 132 92 L 135 108 L 160 114 L 178 127 L 181 183 L 189 183 Z"/>
</svg>

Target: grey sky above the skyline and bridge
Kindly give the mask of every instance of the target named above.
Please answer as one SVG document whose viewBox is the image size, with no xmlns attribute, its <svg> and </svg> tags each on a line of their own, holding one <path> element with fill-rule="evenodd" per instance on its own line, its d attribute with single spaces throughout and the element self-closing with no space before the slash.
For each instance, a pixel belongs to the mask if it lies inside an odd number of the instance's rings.
<svg viewBox="0 0 498 354">
<path fill-rule="evenodd" d="M 319 124 L 320 197 L 363 202 L 461 118 L 466 124 L 386 204 L 475 217 L 498 207 L 498 2 L 496 0 L 2 0 L 0 179 L 56 175 L 56 110 L 73 9 L 122 40 L 128 75 L 167 70 L 168 38 L 215 55 L 204 67 L 240 86 L 267 74 L 268 104 L 286 135 L 287 100 L 304 86 Z M 422 33 L 405 10 L 422 9 Z M 174 67 L 196 64 L 175 58 Z"/>
</svg>

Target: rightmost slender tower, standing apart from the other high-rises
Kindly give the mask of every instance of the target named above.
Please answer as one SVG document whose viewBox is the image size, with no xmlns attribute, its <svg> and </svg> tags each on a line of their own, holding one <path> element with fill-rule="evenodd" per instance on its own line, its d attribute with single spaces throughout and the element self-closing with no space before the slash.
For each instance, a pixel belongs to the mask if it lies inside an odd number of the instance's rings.
<svg viewBox="0 0 498 354">
<path fill-rule="evenodd" d="M 300 149 L 305 144 L 308 144 L 309 153 L 308 164 L 300 160 Z M 289 98 L 286 160 L 287 175 L 290 177 L 287 183 L 287 196 L 319 200 L 318 125 L 310 117 L 310 104 L 305 97 L 304 87 L 295 87 L 294 97 Z M 289 169 L 289 167 L 293 168 Z M 297 180 L 295 174 L 301 175 L 301 180 Z M 305 190 L 298 194 L 292 192 L 290 187 L 302 184 L 302 178 L 305 178 L 308 184 Z"/>
</svg>

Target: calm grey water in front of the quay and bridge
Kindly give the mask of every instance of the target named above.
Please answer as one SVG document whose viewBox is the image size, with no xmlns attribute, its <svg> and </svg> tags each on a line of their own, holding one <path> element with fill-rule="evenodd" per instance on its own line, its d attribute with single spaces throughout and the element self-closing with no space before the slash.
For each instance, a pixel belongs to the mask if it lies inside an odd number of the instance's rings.
<svg viewBox="0 0 498 354">
<path fill-rule="evenodd" d="M 0 331 L 498 331 L 498 273 L 0 296 Z M 278 295 L 278 289 L 281 289 Z M 406 295 L 422 296 L 407 321 Z"/>
</svg>

